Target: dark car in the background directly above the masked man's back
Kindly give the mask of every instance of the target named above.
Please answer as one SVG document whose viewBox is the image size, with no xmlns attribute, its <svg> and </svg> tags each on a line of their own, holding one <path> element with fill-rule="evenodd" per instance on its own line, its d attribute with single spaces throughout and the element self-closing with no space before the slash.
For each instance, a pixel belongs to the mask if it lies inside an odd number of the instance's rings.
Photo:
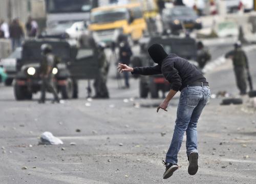
<svg viewBox="0 0 256 184">
<path fill-rule="evenodd" d="M 163 10 L 162 22 L 164 33 L 176 33 L 182 29 L 202 29 L 202 22 L 196 12 L 186 6 L 174 6 Z"/>
</svg>

